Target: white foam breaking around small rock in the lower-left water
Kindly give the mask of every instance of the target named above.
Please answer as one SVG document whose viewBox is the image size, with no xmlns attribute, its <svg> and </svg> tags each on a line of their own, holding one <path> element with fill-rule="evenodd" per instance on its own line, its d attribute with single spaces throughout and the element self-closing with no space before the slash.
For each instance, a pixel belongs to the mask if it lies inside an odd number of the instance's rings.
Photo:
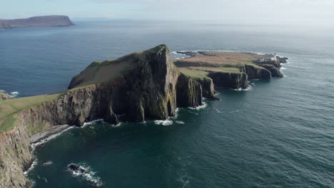
<svg viewBox="0 0 334 188">
<path fill-rule="evenodd" d="M 101 177 L 96 176 L 96 172 L 93 172 L 91 167 L 87 166 L 86 164 L 81 164 L 79 165 L 79 168 L 83 169 L 84 172 L 81 172 L 81 170 L 71 170 L 71 169 L 68 170 L 69 172 L 72 173 L 73 177 L 83 177 L 83 179 L 86 179 L 88 182 L 91 182 L 91 184 L 93 184 L 93 186 L 95 187 L 101 187 L 103 185 Z"/>
</svg>

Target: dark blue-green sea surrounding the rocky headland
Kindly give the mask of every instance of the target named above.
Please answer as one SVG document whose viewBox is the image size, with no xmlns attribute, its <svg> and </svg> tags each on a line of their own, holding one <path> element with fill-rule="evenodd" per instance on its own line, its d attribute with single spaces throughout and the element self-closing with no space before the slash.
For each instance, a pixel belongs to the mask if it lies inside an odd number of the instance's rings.
<svg viewBox="0 0 334 188">
<path fill-rule="evenodd" d="M 180 109 L 169 121 L 72 128 L 36 147 L 27 174 L 35 187 L 334 187 L 330 30 L 155 21 L 3 30 L 0 90 L 19 97 L 66 90 L 92 61 L 161 43 L 171 51 L 278 53 L 290 61 L 282 79 L 218 90 L 220 101 Z M 89 173 L 71 174 L 72 162 Z"/>
</svg>

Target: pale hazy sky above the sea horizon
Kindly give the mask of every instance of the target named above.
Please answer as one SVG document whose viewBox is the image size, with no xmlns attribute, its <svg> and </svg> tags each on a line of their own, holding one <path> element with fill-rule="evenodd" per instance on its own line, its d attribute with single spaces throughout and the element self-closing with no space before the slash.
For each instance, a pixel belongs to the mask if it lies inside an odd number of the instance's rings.
<svg viewBox="0 0 334 188">
<path fill-rule="evenodd" d="M 334 24 L 334 0 L 1 0 L 0 6 L 0 19 L 64 14 L 71 18 Z"/>
</svg>

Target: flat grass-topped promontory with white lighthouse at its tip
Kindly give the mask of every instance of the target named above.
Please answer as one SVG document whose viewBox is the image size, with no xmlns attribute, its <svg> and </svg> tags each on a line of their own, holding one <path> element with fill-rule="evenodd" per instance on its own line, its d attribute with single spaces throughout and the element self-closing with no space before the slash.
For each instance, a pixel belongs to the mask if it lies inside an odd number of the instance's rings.
<svg viewBox="0 0 334 188">
<path fill-rule="evenodd" d="M 188 56 L 174 62 L 182 73 L 194 79 L 211 79 L 216 88 L 226 89 L 246 89 L 248 80 L 282 78 L 280 63 L 286 63 L 288 59 L 277 56 L 276 61 L 260 62 L 262 56 L 256 53 L 225 51 L 178 53 Z"/>
</svg>

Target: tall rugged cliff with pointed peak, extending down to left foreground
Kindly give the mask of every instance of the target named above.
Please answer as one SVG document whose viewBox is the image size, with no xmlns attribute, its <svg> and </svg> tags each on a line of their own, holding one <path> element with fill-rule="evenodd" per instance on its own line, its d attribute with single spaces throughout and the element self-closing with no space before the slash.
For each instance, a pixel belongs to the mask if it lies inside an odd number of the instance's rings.
<svg viewBox="0 0 334 188">
<path fill-rule="evenodd" d="M 98 78 L 109 70 L 108 66 L 122 62 L 126 67 L 120 69 L 120 74 L 107 73 L 103 79 Z M 118 123 L 120 118 L 166 120 L 176 115 L 177 106 L 202 104 L 201 83 L 178 71 L 164 45 L 133 53 L 116 62 L 88 66 L 71 81 L 69 88 L 71 90 L 57 94 L 53 100 L 17 111 L 14 129 L 0 132 L 0 187 L 31 186 L 23 174 L 32 161 L 29 137 L 51 127 L 81 126 L 101 118 L 112 124 Z M 0 105 L 6 107 L 7 103 Z"/>
</svg>

